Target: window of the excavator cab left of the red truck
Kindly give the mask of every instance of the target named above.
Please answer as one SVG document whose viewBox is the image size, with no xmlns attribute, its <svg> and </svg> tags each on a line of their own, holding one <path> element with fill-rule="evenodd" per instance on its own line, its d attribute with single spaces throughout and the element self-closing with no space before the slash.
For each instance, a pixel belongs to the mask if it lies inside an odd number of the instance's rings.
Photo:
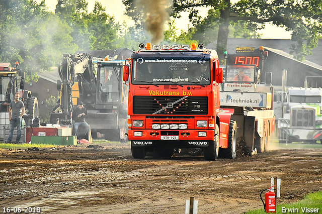
<svg viewBox="0 0 322 214">
<path fill-rule="evenodd" d="M 99 100 L 101 102 L 117 102 L 120 99 L 119 79 L 120 67 L 102 66 L 99 76 Z"/>
</svg>

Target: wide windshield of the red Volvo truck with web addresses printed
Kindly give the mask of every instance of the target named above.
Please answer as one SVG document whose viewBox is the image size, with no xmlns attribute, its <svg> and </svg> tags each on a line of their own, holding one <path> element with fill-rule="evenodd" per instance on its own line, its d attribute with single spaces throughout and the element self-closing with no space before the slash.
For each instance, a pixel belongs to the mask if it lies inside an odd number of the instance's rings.
<svg viewBox="0 0 322 214">
<path fill-rule="evenodd" d="M 142 59 L 133 60 L 132 83 L 210 84 L 209 59 Z"/>
</svg>

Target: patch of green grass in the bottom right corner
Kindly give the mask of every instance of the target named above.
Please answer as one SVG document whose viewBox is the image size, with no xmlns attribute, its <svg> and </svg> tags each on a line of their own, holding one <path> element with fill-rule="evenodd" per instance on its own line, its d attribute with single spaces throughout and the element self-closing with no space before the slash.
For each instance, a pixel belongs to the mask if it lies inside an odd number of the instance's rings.
<svg viewBox="0 0 322 214">
<path fill-rule="evenodd" d="M 263 193 L 263 197 L 264 197 L 264 193 Z M 264 198 L 263 198 L 264 200 Z M 309 210 L 310 212 L 304 212 L 302 211 L 302 208 L 315 208 L 317 212 L 314 212 L 314 210 Z M 288 209 L 293 209 L 293 211 L 289 211 Z M 298 209 L 294 210 L 294 208 Z M 282 212 L 283 211 L 283 212 Z M 263 214 L 266 213 L 264 211 L 264 206 L 261 209 L 256 209 L 256 210 L 251 210 L 246 212 L 245 214 Z M 322 191 L 319 192 L 314 192 L 311 194 L 308 194 L 304 197 L 304 199 L 299 200 L 297 202 L 291 203 L 291 204 L 277 204 L 277 208 L 276 208 L 276 213 L 319 213 L 322 214 Z"/>
</svg>

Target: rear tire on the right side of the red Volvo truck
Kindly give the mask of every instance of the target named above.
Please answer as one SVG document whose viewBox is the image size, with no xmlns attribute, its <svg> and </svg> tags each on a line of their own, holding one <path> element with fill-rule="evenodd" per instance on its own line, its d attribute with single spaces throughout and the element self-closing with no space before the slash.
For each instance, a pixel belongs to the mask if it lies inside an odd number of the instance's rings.
<svg viewBox="0 0 322 214">
<path fill-rule="evenodd" d="M 229 133 L 228 133 L 228 147 L 226 149 L 219 148 L 219 158 L 236 158 L 236 146 L 237 146 L 237 123 L 236 121 L 230 120 L 229 122 Z"/>
</svg>

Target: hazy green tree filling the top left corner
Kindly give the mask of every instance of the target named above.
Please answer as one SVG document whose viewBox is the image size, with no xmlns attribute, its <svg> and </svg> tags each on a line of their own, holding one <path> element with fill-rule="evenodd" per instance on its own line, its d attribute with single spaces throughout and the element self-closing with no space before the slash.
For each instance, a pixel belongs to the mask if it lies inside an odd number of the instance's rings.
<svg viewBox="0 0 322 214">
<path fill-rule="evenodd" d="M 50 70 L 58 56 L 74 49 L 69 28 L 47 12 L 44 1 L 0 1 L 0 62 L 15 61 L 26 71 L 27 81 Z"/>
</svg>

